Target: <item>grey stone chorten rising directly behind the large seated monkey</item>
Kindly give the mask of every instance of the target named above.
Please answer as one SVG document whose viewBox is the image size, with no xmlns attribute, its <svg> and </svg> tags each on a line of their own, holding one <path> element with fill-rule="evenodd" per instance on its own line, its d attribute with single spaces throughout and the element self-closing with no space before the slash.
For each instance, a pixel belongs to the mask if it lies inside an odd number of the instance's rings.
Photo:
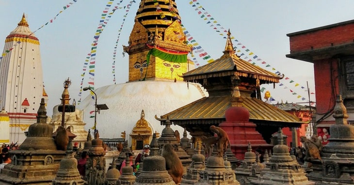
<svg viewBox="0 0 354 185">
<path fill-rule="evenodd" d="M 186 151 L 184 151 L 180 145 L 180 143 L 178 143 L 177 138 L 175 136 L 175 132 L 173 131 L 173 129 L 170 127 L 171 126 L 171 122 L 167 117 L 167 120 L 164 122 L 165 128 L 163 128 L 162 133 L 161 133 L 161 137 L 159 138 L 158 142 L 160 147 L 162 148 L 164 144 L 172 144 L 175 145 L 177 144 L 178 148 L 176 154 L 178 156 L 178 158 L 181 160 L 182 165 L 183 165 L 183 174 L 187 173 L 187 167 L 191 164 L 192 159 L 191 156 L 189 156 Z"/>
</svg>

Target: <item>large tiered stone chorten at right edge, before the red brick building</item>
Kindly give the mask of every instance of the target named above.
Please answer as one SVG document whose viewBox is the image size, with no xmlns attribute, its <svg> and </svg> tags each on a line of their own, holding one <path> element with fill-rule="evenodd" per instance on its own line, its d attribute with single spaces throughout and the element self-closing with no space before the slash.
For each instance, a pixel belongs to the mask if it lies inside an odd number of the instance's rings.
<svg viewBox="0 0 354 185">
<path fill-rule="evenodd" d="M 322 148 L 322 163 L 311 160 L 313 172 L 308 179 L 318 185 L 354 185 L 354 127 L 347 122 L 343 100 L 337 95 L 333 117 L 336 124 L 329 130 L 331 138 Z"/>
</svg>

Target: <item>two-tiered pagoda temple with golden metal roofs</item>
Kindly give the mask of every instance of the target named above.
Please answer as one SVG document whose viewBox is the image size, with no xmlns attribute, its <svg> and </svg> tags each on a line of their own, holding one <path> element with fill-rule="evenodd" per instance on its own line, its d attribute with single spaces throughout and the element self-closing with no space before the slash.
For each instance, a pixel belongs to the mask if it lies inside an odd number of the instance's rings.
<svg viewBox="0 0 354 185">
<path fill-rule="evenodd" d="M 193 136 L 194 144 L 203 135 L 212 136 L 209 131 L 211 125 L 219 125 L 227 121 L 225 111 L 231 106 L 247 108 L 249 121 L 257 125 L 256 130 L 268 143 L 271 135 L 279 127 L 300 127 L 302 121 L 298 117 L 261 100 L 260 85 L 278 83 L 282 76 L 266 71 L 235 55 L 230 35 L 229 31 L 222 57 L 182 75 L 185 82 L 201 84 L 207 89 L 209 97 L 196 100 L 162 115 L 161 118 L 156 118 L 163 122 L 168 116 L 171 122 L 186 128 Z M 247 129 L 243 131 L 247 133 Z M 232 148 L 233 141 L 230 142 Z M 246 146 L 247 138 L 244 138 L 243 142 Z"/>
</svg>

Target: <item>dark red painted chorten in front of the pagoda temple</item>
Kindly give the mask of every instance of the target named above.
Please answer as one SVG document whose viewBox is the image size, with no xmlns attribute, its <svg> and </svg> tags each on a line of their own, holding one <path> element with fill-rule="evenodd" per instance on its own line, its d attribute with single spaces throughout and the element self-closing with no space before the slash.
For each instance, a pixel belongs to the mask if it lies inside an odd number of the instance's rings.
<svg viewBox="0 0 354 185">
<path fill-rule="evenodd" d="M 230 139 L 231 150 L 236 158 L 243 160 L 244 153 L 247 152 L 248 143 L 254 147 L 271 149 L 273 145 L 263 140 L 262 135 L 257 132 L 256 124 L 249 122 L 249 111 L 244 107 L 229 107 L 225 111 L 226 121 L 219 124 L 224 129 Z"/>
</svg>

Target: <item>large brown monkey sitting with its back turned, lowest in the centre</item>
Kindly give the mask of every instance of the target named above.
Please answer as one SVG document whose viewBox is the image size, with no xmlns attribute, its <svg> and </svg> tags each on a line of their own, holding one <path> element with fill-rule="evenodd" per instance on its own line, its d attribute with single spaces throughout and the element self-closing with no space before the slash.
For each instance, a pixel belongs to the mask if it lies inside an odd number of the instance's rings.
<svg viewBox="0 0 354 185">
<path fill-rule="evenodd" d="M 165 158 L 166 170 L 168 174 L 171 175 L 173 181 L 176 183 L 176 185 L 178 185 L 181 183 L 183 175 L 183 165 L 181 160 L 178 158 L 171 144 L 163 145 L 161 154 L 162 157 Z"/>
</svg>

